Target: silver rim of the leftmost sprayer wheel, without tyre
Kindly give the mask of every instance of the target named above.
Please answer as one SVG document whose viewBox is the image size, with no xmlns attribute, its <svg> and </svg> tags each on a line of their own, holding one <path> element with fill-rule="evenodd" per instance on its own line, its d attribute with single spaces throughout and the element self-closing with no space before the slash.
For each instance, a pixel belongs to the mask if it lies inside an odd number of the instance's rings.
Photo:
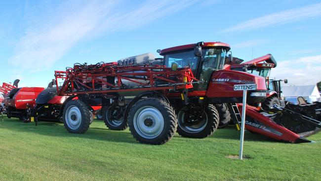
<svg viewBox="0 0 321 181">
<path fill-rule="evenodd" d="M 72 130 L 77 130 L 81 124 L 81 113 L 77 106 L 69 106 L 65 115 L 66 124 Z"/>
</svg>

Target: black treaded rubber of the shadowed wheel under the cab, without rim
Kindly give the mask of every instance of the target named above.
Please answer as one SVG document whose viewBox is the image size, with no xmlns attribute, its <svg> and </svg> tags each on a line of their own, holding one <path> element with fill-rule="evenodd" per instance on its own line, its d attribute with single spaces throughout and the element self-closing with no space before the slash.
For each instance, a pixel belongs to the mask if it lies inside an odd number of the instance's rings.
<svg viewBox="0 0 321 181">
<path fill-rule="evenodd" d="M 198 133 L 187 133 L 182 130 L 180 127 L 177 128 L 177 133 L 183 137 L 190 138 L 204 138 L 207 136 L 211 136 L 217 129 L 219 124 L 219 115 L 213 104 L 207 104 L 205 106 L 205 113 L 207 114 L 207 125 L 206 127 Z"/>
</svg>

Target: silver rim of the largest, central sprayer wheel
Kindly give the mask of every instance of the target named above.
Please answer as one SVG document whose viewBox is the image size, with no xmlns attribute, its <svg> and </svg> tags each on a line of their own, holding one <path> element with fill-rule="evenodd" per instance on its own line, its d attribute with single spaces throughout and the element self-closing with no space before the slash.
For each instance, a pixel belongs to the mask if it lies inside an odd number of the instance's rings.
<svg viewBox="0 0 321 181">
<path fill-rule="evenodd" d="M 148 139 L 159 136 L 164 129 L 164 118 L 161 112 L 152 106 L 138 109 L 133 123 L 138 135 Z"/>
</svg>

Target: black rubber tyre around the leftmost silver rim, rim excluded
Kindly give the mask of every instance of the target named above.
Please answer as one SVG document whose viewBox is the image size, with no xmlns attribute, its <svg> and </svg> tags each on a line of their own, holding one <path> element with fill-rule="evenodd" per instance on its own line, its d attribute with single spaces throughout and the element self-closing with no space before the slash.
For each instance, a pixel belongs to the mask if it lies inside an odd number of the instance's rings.
<svg viewBox="0 0 321 181">
<path fill-rule="evenodd" d="M 82 119 L 84 119 L 83 123 L 80 123 L 80 127 L 77 130 L 69 129 L 69 127 L 66 123 L 66 120 L 65 120 L 66 110 L 70 106 L 70 104 L 79 104 L 78 106 L 77 105 L 76 106 L 80 110 L 81 117 L 83 116 Z M 66 103 L 66 105 L 64 107 L 64 112 L 63 112 L 63 122 L 64 122 L 64 126 L 65 126 L 66 130 L 69 133 L 84 134 L 89 128 L 89 125 L 90 125 L 89 120 L 90 120 L 89 109 L 88 109 L 88 106 L 84 102 L 82 102 L 81 100 L 70 100 Z"/>
</svg>

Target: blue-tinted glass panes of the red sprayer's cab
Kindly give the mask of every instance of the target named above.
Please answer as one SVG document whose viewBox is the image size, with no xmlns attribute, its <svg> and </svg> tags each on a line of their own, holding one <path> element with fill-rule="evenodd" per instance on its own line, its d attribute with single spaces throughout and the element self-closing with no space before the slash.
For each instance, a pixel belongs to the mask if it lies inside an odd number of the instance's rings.
<svg viewBox="0 0 321 181">
<path fill-rule="evenodd" d="M 209 69 L 211 71 L 223 69 L 225 54 L 225 49 L 202 49 L 202 72 Z M 166 67 L 171 67 L 173 63 L 176 63 L 179 68 L 190 67 L 195 74 L 198 66 L 198 57 L 194 55 L 194 50 L 171 53 L 164 55 L 164 63 Z"/>
</svg>

